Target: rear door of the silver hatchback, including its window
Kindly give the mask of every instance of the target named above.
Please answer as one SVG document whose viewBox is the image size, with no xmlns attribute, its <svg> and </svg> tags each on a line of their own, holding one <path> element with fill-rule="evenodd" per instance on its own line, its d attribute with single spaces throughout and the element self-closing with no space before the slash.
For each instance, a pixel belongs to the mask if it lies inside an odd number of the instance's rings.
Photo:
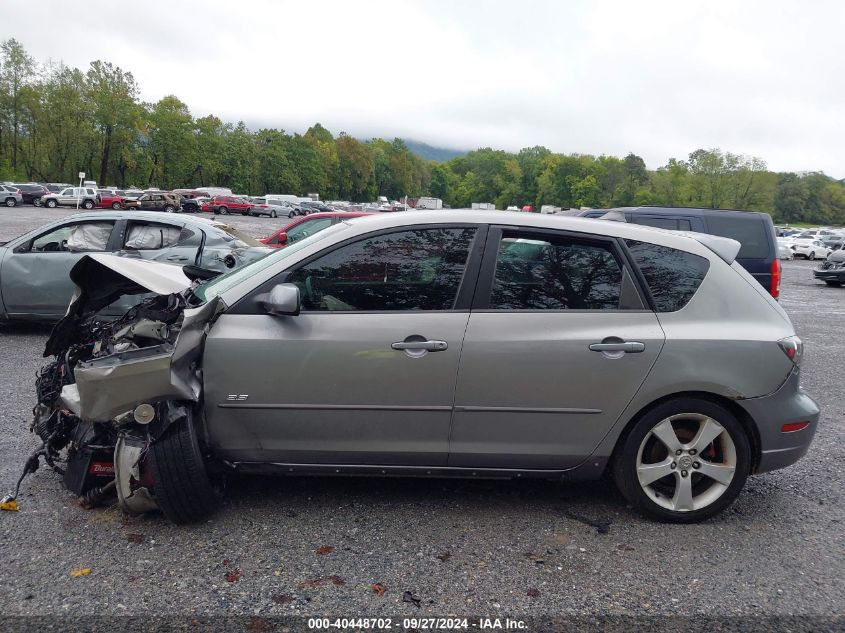
<svg viewBox="0 0 845 633">
<path fill-rule="evenodd" d="M 491 228 L 458 372 L 449 465 L 584 460 L 663 346 L 620 245 Z"/>
</svg>

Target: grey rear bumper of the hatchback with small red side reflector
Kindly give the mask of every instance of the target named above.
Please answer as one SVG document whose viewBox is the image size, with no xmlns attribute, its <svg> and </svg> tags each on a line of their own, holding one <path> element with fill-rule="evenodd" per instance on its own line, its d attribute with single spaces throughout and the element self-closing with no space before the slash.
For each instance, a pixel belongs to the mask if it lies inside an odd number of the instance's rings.
<svg viewBox="0 0 845 633">
<path fill-rule="evenodd" d="M 799 372 L 794 370 L 775 393 L 760 398 L 738 400 L 757 425 L 760 435 L 760 461 L 755 473 L 785 468 L 797 462 L 810 447 L 819 421 L 819 406 L 801 389 Z M 800 431 L 783 433 L 792 422 L 809 422 Z"/>
</svg>

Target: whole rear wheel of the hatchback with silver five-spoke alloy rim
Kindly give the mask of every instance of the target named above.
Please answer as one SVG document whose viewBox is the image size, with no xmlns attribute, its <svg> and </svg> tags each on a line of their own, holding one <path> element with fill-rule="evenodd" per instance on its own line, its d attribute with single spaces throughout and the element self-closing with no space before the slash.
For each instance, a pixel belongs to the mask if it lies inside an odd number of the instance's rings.
<svg viewBox="0 0 845 633">
<path fill-rule="evenodd" d="M 681 453 L 673 454 L 655 430 Z M 700 431 L 708 438 L 716 435 L 695 446 Z M 709 400 L 664 402 L 643 415 L 620 442 L 613 460 L 617 487 L 629 503 L 660 521 L 709 519 L 733 503 L 751 471 L 745 429 L 730 411 Z M 641 477 L 650 482 L 641 483 Z"/>
</svg>

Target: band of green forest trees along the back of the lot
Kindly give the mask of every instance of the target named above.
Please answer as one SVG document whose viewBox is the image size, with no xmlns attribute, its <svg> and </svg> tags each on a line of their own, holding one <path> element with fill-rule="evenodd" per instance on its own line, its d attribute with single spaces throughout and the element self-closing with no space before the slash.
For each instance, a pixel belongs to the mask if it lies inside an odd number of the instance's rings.
<svg viewBox="0 0 845 633">
<path fill-rule="evenodd" d="M 561 207 L 678 205 L 765 211 L 779 222 L 845 224 L 845 182 L 775 173 L 762 158 L 696 149 L 656 170 L 625 157 L 481 148 L 447 162 L 401 139 L 367 141 L 315 123 L 304 134 L 195 118 L 177 96 L 145 103 L 131 72 L 39 63 L 16 40 L 0 45 L 0 180 L 103 186 L 224 186 L 237 193 L 319 193 L 324 200 L 442 198 Z M 279 113 L 283 118 L 284 113 Z"/>
</svg>

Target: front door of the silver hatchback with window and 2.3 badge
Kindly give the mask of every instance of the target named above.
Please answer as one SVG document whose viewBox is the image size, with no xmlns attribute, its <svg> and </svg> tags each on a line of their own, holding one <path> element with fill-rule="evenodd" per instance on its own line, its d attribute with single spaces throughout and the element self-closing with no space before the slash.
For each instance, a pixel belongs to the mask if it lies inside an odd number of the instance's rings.
<svg viewBox="0 0 845 633">
<path fill-rule="evenodd" d="M 203 362 L 217 452 L 445 465 L 477 232 L 428 226 L 333 246 L 278 279 L 299 287 L 299 315 L 240 304 L 221 315 Z"/>
</svg>

